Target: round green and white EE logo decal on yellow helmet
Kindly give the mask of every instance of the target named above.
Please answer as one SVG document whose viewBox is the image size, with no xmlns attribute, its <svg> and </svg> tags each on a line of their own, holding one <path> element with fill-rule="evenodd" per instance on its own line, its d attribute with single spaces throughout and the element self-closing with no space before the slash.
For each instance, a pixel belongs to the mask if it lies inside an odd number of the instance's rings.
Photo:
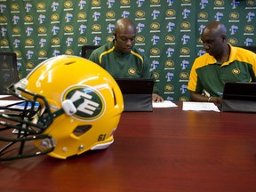
<svg viewBox="0 0 256 192">
<path fill-rule="evenodd" d="M 98 119 L 104 114 L 106 108 L 105 100 L 100 92 L 86 85 L 68 87 L 63 94 L 63 100 L 72 100 L 73 103 L 78 102 L 76 114 L 73 116 L 84 121 Z"/>
</svg>

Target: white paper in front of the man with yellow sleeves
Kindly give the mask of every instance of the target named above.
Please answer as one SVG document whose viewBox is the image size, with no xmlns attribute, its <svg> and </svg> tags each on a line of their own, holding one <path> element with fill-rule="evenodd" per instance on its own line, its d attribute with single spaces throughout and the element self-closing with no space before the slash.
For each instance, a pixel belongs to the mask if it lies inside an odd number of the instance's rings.
<svg viewBox="0 0 256 192">
<path fill-rule="evenodd" d="M 220 112 L 220 109 L 212 102 L 183 102 L 182 110 L 194 110 L 194 111 L 216 111 Z"/>
</svg>

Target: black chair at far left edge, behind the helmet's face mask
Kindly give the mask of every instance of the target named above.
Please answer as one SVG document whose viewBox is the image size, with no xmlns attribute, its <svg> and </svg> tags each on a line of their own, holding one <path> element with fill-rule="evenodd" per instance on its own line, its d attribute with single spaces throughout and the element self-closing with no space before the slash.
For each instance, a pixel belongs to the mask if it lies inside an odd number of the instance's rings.
<svg viewBox="0 0 256 192">
<path fill-rule="evenodd" d="M 16 53 L 0 52 L 0 94 L 7 94 L 7 88 L 18 81 Z"/>
</svg>

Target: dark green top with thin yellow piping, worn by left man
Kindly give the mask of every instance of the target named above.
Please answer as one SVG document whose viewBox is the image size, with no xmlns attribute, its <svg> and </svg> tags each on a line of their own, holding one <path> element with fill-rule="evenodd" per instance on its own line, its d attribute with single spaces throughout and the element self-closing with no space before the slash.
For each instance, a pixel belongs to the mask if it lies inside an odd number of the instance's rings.
<svg viewBox="0 0 256 192">
<path fill-rule="evenodd" d="M 111 42 L 94 50 L 89 60 L 105 68 L 114 78 L 153 78 L 148 58 L 135 47 L 131 53 L 125 54 L 116 51 L 114 42 Z M 158 92 L 156 84 L 153 92 Z"/>
</svg>

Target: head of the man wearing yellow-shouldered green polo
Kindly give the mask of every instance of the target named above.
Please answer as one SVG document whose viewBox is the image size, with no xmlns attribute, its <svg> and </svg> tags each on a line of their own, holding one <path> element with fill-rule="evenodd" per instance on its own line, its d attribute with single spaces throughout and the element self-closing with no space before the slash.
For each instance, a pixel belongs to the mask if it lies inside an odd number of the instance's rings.
<svg viewBox="0 0 256 192">
<path fill-rule="evenodd" d="M 226 49 L 226 31 L 223 24 L 218 21 L 210 22 L 203 30 L 201 39 L 204 43 L 204 50 L 215 58 L 218 58 Z"/>
</svg>

